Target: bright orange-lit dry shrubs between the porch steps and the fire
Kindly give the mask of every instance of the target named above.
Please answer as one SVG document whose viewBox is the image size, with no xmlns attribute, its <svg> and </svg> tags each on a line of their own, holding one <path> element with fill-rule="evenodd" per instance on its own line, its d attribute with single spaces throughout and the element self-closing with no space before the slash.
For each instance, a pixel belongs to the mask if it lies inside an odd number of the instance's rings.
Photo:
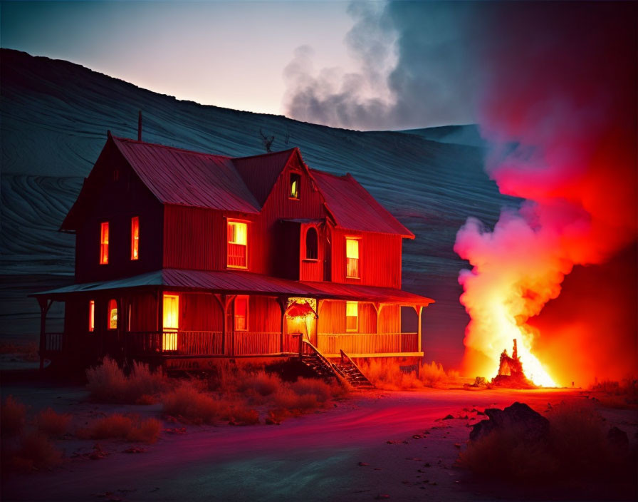
<svg viewBox="0 0 638 502">
<path fill-rule="evenodd" d="M 370 362 L 362 363 L 361 371 L 372 384 L 386 390 L 423 389 L 424 387 L 444 389 L 459 378 L 458 372 L 446 372 L 442 364 L 434 361 L 430 364 L 421 364 L 418 372 L 404 372 L 392 361 L 370 359 Z"/>
</svg>

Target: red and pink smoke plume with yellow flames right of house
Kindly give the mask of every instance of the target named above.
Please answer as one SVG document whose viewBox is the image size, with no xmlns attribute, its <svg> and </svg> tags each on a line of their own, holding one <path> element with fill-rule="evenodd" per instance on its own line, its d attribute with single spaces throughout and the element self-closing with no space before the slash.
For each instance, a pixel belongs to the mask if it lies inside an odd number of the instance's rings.
<svg viewBox="0 0 638 502">
<path fill-rule="evenodd" d="M 610 292 L 635 297 L 635 266 L 605 277 L 580 266 L 615 262 L 621 250 L 635 257 L 636 19 L 631 3 L 513 3 L 476 26 L 478 118 L 495 144 L 486 167 L 502 193 L 525 201 L 493 230 L 469 218 L 456 237 L 473 266 L 459 277 L 471 316 L 467 372 L 493 376 L 512 337 L 530 353 L 528 367 L 540 360 L 559 384 L 635 371 L 635 305 L 621 325 L 596 322 L 618 302 Z M 543 321 L 575 266 L 578 280 Z M 605 284 L 595 302 L 579 302 L 588 276 Z"/>
</svg>

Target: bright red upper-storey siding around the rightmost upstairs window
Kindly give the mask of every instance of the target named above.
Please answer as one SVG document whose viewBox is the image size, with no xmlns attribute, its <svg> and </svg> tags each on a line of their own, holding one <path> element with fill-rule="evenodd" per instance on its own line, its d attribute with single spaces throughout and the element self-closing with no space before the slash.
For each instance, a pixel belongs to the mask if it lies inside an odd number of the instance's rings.
<svg viewBox="0 0 638 502">
<path fill-rule="evenodd" d="M 345 238 L 359 238 L 359 279 L 345 277 Z M 332 231 L 332 281 L 364 286 L 401 287 L 401 247 L 399 235 Z"/>
</svg>

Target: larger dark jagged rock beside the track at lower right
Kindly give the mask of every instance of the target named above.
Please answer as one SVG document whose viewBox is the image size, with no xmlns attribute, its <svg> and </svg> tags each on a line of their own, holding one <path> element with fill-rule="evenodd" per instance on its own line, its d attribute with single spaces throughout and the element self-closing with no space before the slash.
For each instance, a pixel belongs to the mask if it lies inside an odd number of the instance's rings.
<svg viewBox="0 0 638 502">
<path fill-rule="evenodd" d="M 472 427 L 471 441 L 485 437 L 493 431 L 506 430 L 517 431 L 521 440 L 525 442 L 534 442 L 548 437 L 550 422 L 527 404 L 516 402 L 503 410 L 488 408 L 485 413 L 489 420 L 482 420 Z"/>
</svg>

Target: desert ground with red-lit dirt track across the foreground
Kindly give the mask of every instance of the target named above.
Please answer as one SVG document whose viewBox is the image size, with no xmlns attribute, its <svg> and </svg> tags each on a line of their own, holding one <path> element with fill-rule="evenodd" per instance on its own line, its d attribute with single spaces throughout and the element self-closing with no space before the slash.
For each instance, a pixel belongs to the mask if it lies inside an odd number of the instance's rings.
<svg viewBox="0 0 638 502">
<path fill-rule="evenodd" d="M 605 500 L 596 483 L 576 495 L 564 488 L 545 493 L 490 485 L 455 465 L 470 426 L 486 418 L 474 410 L 521 401 L 543 411 L 548 403 L 590 399 L 580 389 L 354 391 L 328 409 L 255 426 L 174 423 L 162 416 L 161 404 L 97 404 L 80 384 L 5 377 L 1 391 L 3 399 L 11 394 L 32 409 L 71 413 L 77 424 L 113 412 L 163 421 L 157 443 L 136 454 L 125 453 L 130 443 L 98 441 L 107 455 L 93 460 L 96 441 L 59 440 L 61 466 L 5 474 L 5 501 Z M 601 412 L 635 447 L 637 412 Z"/>
</svg>

